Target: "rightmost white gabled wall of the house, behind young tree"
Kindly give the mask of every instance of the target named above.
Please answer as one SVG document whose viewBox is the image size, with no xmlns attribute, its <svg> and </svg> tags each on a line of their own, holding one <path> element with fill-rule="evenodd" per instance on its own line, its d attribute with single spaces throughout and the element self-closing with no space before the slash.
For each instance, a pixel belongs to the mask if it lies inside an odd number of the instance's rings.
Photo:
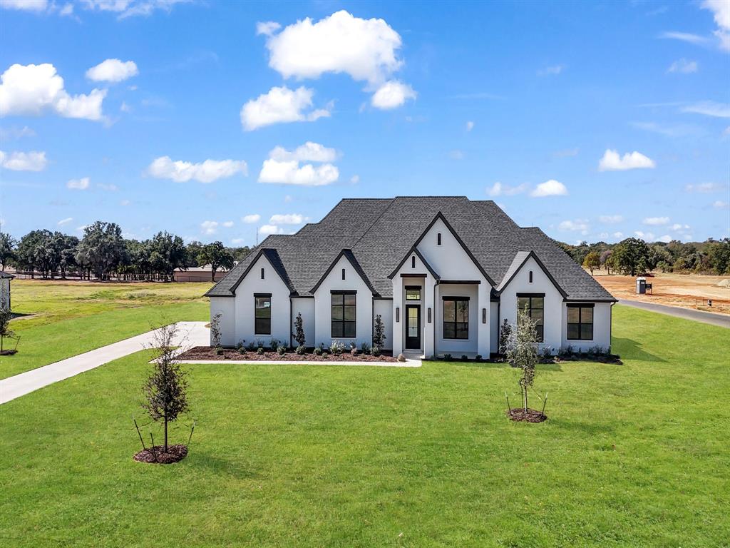
<svg viewBox="0 0 730 548">
<path fill-rule="evenodd" d="M 532 271 L 532 283 L 529 282 L 529 273 Z M 530 257 L 522 265 L 512 281 L 502 291 L 500 314 L 502 320 L 509 324 L 517 324 L 517 294 L 518 293 L 545 293 L 543 343 L 540 349 L 550 346 L 553 353 L 557 352 L 563 343 L 563 332 L 566 329 L 563 321 L 565 308 L 563 295 L 550 281 L 542 268 Z"/>
</svg>

